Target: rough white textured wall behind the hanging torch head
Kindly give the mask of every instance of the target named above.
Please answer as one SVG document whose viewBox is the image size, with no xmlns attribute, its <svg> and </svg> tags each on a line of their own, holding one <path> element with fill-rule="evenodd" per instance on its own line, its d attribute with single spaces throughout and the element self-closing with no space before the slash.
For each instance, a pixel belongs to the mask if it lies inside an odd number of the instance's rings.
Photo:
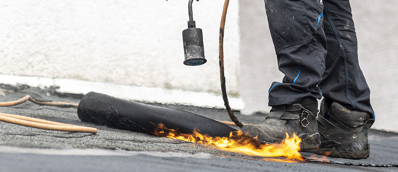
<svg viewBox="0 0 398 172">
<path fill-rule="evenodd" d="M 194 1 L 205 65 L 183 65 L 188 0 L 0 2 L 0 73 L 220 94 L 223 1 Z M 238 2 L 228 8 L 227 91 L 238 95 Z"/>
</svg>

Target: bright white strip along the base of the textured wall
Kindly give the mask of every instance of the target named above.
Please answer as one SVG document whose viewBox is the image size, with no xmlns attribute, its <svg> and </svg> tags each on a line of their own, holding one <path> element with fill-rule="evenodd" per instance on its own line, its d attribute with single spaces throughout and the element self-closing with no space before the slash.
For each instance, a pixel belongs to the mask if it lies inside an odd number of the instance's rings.
<svg viewBox="0 0 398 172">
<path fill-rule="evenodd" d="M 221 95 L 184 90 L 167 90 L 134 85 L 90 82 L 64 78 L 44 78 L 40 76 L 16 76 L 0 74 L 2 84 L 26 84 L 42 89 L 55 88 L 62 94 L 87 94 L 90 91 L 101 92 L 122 99 L 173 105 L 191 105 L 204 108 L 225 109 Z M 128 93 L 128 94 L 127 94 Z M 241 111 L 245 107 L 241 97 L 228 97 L 233 110 Z M 246 114 L 249 115 L 249 114 Z"/>
</svg>

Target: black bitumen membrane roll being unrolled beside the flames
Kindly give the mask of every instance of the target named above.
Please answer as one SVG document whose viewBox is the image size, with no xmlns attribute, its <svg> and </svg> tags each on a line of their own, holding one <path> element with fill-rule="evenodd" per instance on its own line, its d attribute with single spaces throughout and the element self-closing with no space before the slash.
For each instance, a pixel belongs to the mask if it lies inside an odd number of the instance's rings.
<svg viewBox="0 0 398 172">
<path fill-rule="evenodd" d="M 83 122 L 111 128 L 154 134 L 157 124 L 190 134 L 194 129 L 212 137 L 228 137 L 236 129 L 221 122 L 187 111 L 146 105 L 90 92 L 79 103 L 78 117 Z"/>
</svg>

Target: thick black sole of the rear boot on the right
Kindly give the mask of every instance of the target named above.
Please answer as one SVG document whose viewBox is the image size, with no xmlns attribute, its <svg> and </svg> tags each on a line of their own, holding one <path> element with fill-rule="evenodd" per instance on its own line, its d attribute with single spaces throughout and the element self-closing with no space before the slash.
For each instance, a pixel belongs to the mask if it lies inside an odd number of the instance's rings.
<svg viewBox="0 0 398 172">
<path fill-rule="evenodd" d="M 325 142 L 329 142 L 326 145 Z M 347 159 L 367 159 L 370 154 L 370 147 L 368 143 L 336 143 L 330 145 L 330 142 L 322 142 L 319 149 L 307 150 L 305 152 L 324 155 L 332 158 L 347 158 Z M 325 146 L 326 145 L 326 146 Z"/>
</svg>

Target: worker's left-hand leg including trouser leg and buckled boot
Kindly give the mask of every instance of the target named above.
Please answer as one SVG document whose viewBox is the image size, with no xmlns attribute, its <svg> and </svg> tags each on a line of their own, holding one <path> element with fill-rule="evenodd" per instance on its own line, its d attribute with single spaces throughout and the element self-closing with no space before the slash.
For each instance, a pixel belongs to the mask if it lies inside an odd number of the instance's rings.
<svg viewBox="0 0 398 172">
<path fill-rule="evenodd" d="M 322 97 L 316 86 L 325 69 L 326 37 L 319 0 L 265 0 L 269 29 L 283 82 L 269 88 L 269 113 L 260 126 L 242 131 L 266 143 L 280 142 L 295 133 L 302 150 L 316 149 L 320 135 L 316 123 Z"/>
</svg>

